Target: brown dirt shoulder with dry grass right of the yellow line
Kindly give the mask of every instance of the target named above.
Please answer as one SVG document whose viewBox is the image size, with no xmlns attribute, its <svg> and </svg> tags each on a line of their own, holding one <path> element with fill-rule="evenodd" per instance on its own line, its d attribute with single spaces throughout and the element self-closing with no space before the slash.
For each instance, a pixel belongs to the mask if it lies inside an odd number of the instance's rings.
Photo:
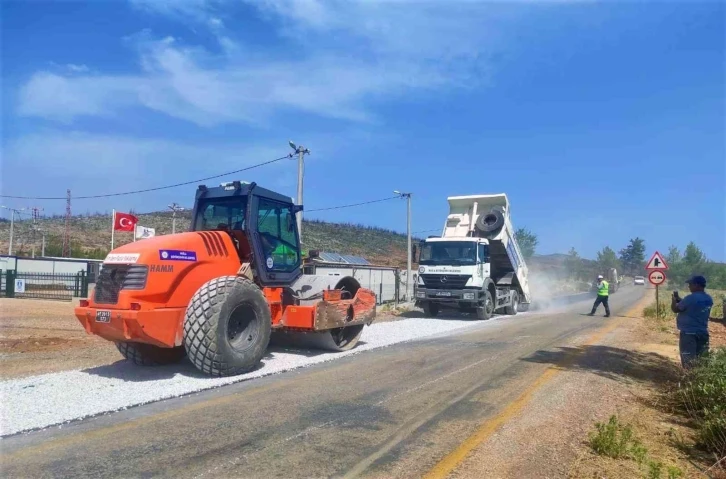
<svg viewBox="0 0 726 479">
<path fill-rule="evenodd" d="M 633 426 L 648 449 L 648 460 L 678 467 L 681 477 L 726 479 L 705 471 L 714 458 L 699 456 L 694 432 L 682 417 L 668 414 L 662 388 L 679 376 L 675 327 L 641 316 L 645 299 L 618 318 L 619 327 L 596 344 L 542 352 L 534 362 L 559 373 L 531 402 L 453 472 L 454 478 L 649 477 L 648 466 L 598 456 L 587 441 L 596 422 L 616 414 Z M 711 324 L 712 347 L 726 345 L 726 327 Z M 577 342 L 574 342 L 577 344 Z"/>
</svg>

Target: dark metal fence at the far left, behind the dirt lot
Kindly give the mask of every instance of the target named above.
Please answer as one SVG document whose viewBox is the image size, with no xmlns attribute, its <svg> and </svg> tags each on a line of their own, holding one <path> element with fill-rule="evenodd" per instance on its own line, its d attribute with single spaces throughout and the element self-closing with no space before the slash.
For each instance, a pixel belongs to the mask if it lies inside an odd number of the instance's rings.
<svg viewBox="0 0 726 479">
<path fill-rule="evenodd" d="M 7 271 L 2 293 L 7 298 L 50 299 L 72 301 L 88 297 L 88 275 L 85 271 L 68 273 L 18 273 Z"/>
</svg>

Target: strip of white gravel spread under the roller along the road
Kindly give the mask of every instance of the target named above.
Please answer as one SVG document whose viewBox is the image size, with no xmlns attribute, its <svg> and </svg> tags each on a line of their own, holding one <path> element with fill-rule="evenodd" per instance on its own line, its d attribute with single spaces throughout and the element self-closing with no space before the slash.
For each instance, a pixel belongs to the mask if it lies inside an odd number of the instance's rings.
<svg viewBox="0 0 726 479">
<path fill-rule="evenodd" d="M 530 313 L 531 314 L 531 313 Z M 506 318 L 502 317 L 502 319 Z M 396 343 L 470 328 L 491 327 L 498 321 L 412 318 L 366 327 L 352 351 L 328 353 L 277 349 L 248 374 L 210 378 L 190 363 L 142 368 L 118 362 L 82 371 L 65 371 L 0 382 L 0 435 L 60 425 L 72 420 L 118 411 L 140 404 L 212 389 L 227 384 L 340 359 Z"/>
</svg>

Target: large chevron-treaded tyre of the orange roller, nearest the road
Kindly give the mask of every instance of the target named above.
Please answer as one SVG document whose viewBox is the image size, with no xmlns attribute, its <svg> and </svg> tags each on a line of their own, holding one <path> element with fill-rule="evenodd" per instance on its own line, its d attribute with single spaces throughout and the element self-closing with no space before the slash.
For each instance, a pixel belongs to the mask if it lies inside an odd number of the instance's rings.
<svg viewBox="0 0 726 479">
<path fill-rule="evenodd" d="M 267 351 L 270 307 L 247 278 L 222 276 L 192 297 L 184 318 L 189 360 L 212 376 L 235 376 L 257 366 Z"/>
</svg>

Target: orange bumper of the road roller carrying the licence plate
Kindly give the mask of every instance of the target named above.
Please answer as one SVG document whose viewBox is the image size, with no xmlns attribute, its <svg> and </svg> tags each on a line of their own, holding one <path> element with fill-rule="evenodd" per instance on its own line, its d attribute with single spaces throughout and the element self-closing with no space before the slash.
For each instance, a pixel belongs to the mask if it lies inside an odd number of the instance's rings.
<svg viewBox="0 0 726 479">
<path fill-rule="evenodd" d="M 99 311 L 103 313 L 98 314 Z M 110 313 L 106 315 L 106 313 Z M 184 308 L 150 311 L 78 307 L 76 318 L 88 334 L 109 341 L 131 341 L 172 348 L 182 344 Z"/>
</svg>

